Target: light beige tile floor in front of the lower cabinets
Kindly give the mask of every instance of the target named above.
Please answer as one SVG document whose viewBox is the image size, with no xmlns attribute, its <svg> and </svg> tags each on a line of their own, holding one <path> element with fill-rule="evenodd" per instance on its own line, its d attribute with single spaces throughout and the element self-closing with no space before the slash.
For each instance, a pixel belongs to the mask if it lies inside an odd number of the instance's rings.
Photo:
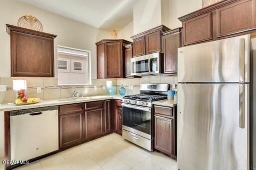
<svg viewBox="0 0 256 170">
<path fill-rule="evenodd" d="M 176 162 L 117 134 L 90 141 L 16 170 L 176 170 Z"/>
</svg>

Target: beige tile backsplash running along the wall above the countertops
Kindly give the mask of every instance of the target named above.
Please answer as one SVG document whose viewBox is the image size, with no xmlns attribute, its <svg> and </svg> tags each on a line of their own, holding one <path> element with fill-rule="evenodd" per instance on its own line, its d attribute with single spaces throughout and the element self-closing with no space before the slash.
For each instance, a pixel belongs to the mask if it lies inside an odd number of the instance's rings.
<svg viewBox="0 0 256 170">
<path fill-rule="evenodd" d="M 57 78 L 6 78 L 0 77 L 0 84 L 7 86 L 6 92 L 0 92 L 0 103 L 11 103 L 15 100 L 15 91 L 12 90 L 13 79 L 25 79 L 27 81 L 27 97 L 40 98 L 42 100 L 53 100 L 71 97 L 73 89 L 83 96 L 106 95 L 106 80 L 112 81 L 115 85 L 116 94 L 119 94 L 119 88 L 123 85 L 126 94 L 139 93 L 141 83 L 168 83 L 176 84 L 176 76 L 145 76 L 142 78 L 128 79 L 92 79 L 92 85 L 88 86 L 57 86 Z M 41 87 L 41 93 L 36 92 L 36 88 Z"/>
</svg>

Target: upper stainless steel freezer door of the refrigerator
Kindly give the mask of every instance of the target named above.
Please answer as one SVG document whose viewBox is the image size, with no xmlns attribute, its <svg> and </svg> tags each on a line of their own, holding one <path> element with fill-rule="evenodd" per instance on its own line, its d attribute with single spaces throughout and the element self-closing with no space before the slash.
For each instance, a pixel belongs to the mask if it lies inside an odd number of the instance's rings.
<svg viewBox="0 0 256 170">
<path fill-rule="evenodd" d="M 249 35 L 178 48 L 178 82 L 249 82 Z"/>
</svg>

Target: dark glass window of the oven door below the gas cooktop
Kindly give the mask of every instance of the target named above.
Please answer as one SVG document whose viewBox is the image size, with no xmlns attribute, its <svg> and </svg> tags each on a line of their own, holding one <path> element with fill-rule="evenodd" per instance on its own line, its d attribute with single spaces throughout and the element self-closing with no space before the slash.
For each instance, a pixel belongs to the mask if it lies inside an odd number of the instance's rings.
<svg viewBox="0 0 256 170">
<path fill-rule="evenodd" d="M 151 112 L 122 107 L 122 124 L 151 135 Z"/>
</svg>

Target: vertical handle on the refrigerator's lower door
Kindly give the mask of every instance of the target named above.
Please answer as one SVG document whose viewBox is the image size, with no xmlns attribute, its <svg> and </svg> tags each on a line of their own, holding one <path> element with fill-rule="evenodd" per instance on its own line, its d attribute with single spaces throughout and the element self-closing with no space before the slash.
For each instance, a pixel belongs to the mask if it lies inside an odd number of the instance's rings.
<svg viewBox="0 0 256 170">
<path fill-rule="evenodd" d="M 239 128 L 244 128 L 244 84 L 239 84 Z"/>
</svg>

